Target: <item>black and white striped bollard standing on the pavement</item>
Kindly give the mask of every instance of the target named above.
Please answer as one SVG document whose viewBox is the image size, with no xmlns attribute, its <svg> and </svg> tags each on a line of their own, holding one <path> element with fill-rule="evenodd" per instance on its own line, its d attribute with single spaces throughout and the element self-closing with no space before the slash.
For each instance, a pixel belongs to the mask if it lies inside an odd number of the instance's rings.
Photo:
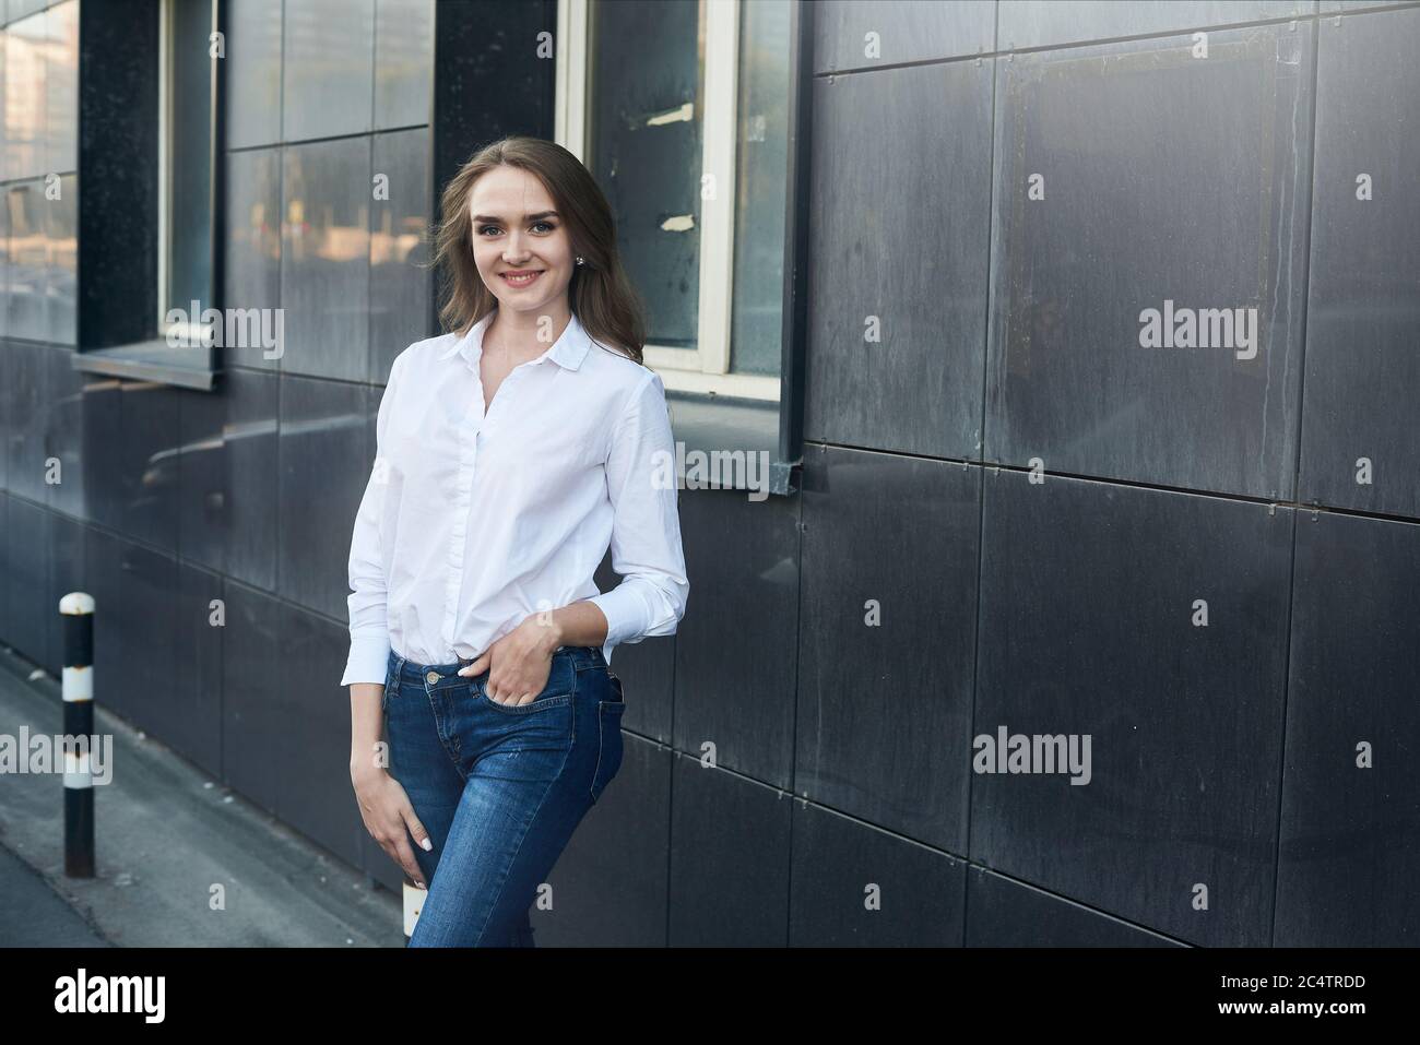
<svg viewBox="0 0 1420 1045">
<path fill-rule="evenodd" d="M 64 735 L 82 738 L 64 751 L 64 873 L 94 877 L 94 596 L 70 592 L 60 599 L 64 622 Z"/>
</svg>

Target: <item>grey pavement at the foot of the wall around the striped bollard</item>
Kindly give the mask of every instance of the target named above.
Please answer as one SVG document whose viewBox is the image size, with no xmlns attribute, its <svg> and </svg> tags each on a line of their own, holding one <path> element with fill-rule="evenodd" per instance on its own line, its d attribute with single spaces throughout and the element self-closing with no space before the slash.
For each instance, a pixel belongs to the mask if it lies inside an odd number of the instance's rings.
<svg viewBox="0 0 1420 1045">
<path fill-rule="evenodd" d="M 0 646 L 0 734 L 62 733 L 58 682 Z M 97 876 L 64 876 L 64 785 L 0 774 L 0 947 L 402 947 L 400 897 L 95 708 Z M 222 885 L 224 909 L 213 909 Z"/>
</svg>

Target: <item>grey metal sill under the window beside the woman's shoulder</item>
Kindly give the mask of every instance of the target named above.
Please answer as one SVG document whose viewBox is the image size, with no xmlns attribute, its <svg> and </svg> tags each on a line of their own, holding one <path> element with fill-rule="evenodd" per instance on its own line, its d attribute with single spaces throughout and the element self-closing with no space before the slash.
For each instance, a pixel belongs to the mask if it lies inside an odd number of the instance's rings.
<svg viewBox="0 0 1420 1045">
<path fill-rule="evenodd" d="M 666 405 L 670 407 L 670 429 L 679 444 L 676 478 L 682 483 L 682 488 L 767 490 L 780 496 L 790 496 L 798 490 L 794 474 L 798 461 L 780 460 L 778 403 L 680 395 L 667 388 Z M 753 470 L 736 469 L 728 476 L 730 481 L 706 481 L 706 464 L 710 466 L 711 478 L 726 478 L 716 476 L 714 467 L 717 461 L 727 461 L 726 454 L 740 454 L 744 459 L 758 454 L 755 461 L 767 463 L 768 474 L 765 476 L 765 470 L 757 463 Z M 693 484 L 687 481 L 687 471 L 694 476 Z"/>
</svg>

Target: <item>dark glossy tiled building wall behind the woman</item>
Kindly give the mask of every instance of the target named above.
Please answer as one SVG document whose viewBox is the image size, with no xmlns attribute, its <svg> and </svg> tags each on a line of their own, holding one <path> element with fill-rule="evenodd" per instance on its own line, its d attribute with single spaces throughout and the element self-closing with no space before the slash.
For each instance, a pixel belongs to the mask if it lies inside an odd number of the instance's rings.
<svg viewBox="0 0 1420 1045">
<path fill-rule="evenodd" d="M 57 670 L 87 588 L 102 701 L 392 887 L 335 682 L 405 233 L 551 133 L 507 43 L 555 4 L 447 9 L 233 6 L 227 304 L 290 322 L 214 393 L 70 366 L 62 48 L 0 169 L 0 639 Z M 812 44 L 802 493 L 683 494 L 690 612 L 616 653 L 540 943 L 1413 943 L 1420 4 L 822 0 Z M 1145 348 L 1166 300 L 1255 355 Z M 974 772 L 1003 726 L 1089 782 Z"/>
</svg>

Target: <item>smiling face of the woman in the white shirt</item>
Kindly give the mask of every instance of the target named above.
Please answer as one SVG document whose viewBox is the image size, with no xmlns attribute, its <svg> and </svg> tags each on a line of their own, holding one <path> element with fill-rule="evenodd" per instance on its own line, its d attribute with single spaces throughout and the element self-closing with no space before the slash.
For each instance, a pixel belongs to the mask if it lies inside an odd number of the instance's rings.
<svg viewBox="0 0 1420 1045">
<path fill-rule="evenodd" d="M 520 168 L 494 168 L 474 182 L 469 213 L 473 260 L 498 308 L 534 315 L 555 312 L 555 304 L 567 301 L 575 258 L 567 227 L 542 182 Z"/>
</svg>

